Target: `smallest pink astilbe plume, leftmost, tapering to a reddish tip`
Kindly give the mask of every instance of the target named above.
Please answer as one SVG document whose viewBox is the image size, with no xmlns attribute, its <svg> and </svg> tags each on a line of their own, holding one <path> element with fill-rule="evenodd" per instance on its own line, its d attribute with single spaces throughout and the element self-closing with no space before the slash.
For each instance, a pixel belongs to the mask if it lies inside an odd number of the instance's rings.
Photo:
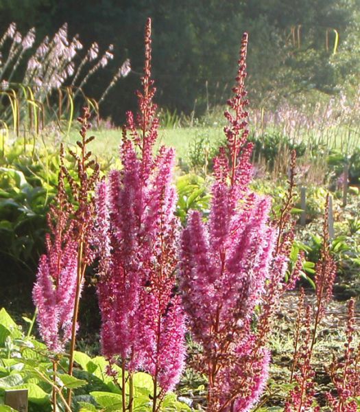
<svg viewBox="0 0 360 412">
<path fill-rule="evenodd" d="M 58 195 L 48 214 L 47 252 L 40 257 L 33 289 L 40 335 L 53 352 L 64 350 L 71 339 L 76 290 L 77 242 L 73 240 L 72 208 L 66 199 L 60 170 Z"/>
</svg>

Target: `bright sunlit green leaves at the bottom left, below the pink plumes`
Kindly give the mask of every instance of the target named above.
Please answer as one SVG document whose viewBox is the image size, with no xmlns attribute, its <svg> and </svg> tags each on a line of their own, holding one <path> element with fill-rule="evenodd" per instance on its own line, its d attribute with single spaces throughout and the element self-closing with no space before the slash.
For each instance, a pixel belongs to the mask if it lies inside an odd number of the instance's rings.
<svg viewBox="0 0 360 412">
<path fill-rule="evenodd" d="M 67 370 L 67 356 L 54 355 L 45 345 L 25 336 L 5 309 L 0 310 L 0 403 L 7 389 L 28 389 L 29 411 L 51 411 L 51 392 L 54 387 L 66 395 L 73 389 L 73 411 L 115 412 L 121 409 L 121 369 L 112 366 L 114 376 L 107 374 L 108 361 L 103 356 L 90 358 L 82 352 L 75 353 L 74 376 Z M 58 363 L 56 384 L 53 382 L 53 362 Z M 152 377 L 144 372 L 133 376 L 134 411 L 151 412 L 151 396 L 154 391 Z M 127 379 L 125 391 L 129 393 Z M 64 404 L 58 396 L 58 410 Z M 182 411 L 191 409 L 179 402 L 174 393 L 168 393 L 160 411 Z"/>
</svg>

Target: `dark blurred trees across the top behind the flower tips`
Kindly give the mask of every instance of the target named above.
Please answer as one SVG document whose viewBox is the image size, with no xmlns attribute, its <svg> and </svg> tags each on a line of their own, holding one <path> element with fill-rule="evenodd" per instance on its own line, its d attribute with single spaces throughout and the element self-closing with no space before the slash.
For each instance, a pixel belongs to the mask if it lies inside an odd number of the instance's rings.
<svg viewBox="0 0 360 412">
<path fill-rule="evenodd" d="M 170 113 L 200 116 L 226 102 L 244 31 L 252 106 L 318 102 L 355 93 L 359 82 L 359 0 L 0 0 L 3 31 L 12 21 L 20 32 L 36 27 L 40 43 L 67 22 L 69 36 L 79 34 L 85 47 L 115 45 L 114 60 L 86 95 L 99 98 L 114 68 L 130 58 L 132 73 L 101 106 L 101 117 L 115 124 L 135 105 L 147 16 L 154 21 L 157 102 Z"/>
</svg>

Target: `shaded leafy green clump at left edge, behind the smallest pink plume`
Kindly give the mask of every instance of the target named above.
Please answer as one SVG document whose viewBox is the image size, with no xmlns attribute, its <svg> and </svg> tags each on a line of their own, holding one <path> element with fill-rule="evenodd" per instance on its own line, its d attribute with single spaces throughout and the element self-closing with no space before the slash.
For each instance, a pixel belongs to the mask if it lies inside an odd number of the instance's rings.
<svg viewBox="0 0 360 412">
<path fill-rule="evenodd" d="M 46 214 L 57 175 L 58 157 L 47 151 L 32 157 L 14 146 L 0 159 L 1 272 L 6 268 L 34 273 L 44 247 Z"/>
</svg>

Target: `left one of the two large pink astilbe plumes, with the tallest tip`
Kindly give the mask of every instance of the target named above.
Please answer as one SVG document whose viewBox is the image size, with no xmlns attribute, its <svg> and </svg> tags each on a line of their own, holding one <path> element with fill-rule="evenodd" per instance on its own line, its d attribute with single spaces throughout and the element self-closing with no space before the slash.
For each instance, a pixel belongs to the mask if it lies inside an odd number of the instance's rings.
<svg viewBox="0 0 360 412">
<path fill-rule="evenodd" d="M 153 155 L 158 116 L 152 101 L 150 19 L 142 84 L 139 113 L 127 113 L 123 127 L 122 169 L 110 172 L 97 189 L 98 294 L 104 355 L 130 379 L 139 369 L 152 375 L 153 411 L 158 411 L 180 378 L 185 349 L 184 314 L 174 290 L 179 233 L 171 183 L 174 152 L 163 147 Z M 123 391 L 124 411 L 126 402 Z"/>
</svg>

